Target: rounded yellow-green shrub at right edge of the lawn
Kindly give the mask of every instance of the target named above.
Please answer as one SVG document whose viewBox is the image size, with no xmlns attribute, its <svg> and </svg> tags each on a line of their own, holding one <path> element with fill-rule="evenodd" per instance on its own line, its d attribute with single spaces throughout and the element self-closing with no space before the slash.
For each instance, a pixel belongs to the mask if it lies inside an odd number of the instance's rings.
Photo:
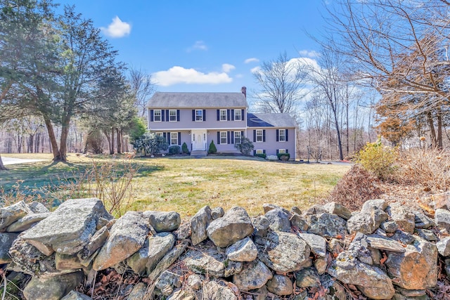
<svg viewBox="0 0 450 300">
<path fill-rule="evenodd" d="M 374 143 L 367 143 L 356 155 L 356 162 L 361 164 L 381 180 L 389 178 L 394 172 L 394 162 L 397 160 L 397 148 L 383 146 L 381 139 Z"/>
</svg>

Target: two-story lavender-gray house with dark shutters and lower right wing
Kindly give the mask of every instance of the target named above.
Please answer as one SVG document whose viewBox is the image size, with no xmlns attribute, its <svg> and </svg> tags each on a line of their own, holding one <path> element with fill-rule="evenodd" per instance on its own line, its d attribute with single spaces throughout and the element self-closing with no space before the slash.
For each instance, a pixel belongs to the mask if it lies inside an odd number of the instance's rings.
<svg viewBox="0 0 450 300">
<path fill-rule="evenodd" d="M 247 110 L 245 87 L 241 93 L 156 92 L 148 101 L 148 129 L 169 145 L 186 143 L 193 153 L 206 152 L 211 141 L 217 152 L 238 152 L 234 145 L 246 136 L 255 146 L 254 155 L 285 152 L 295 159 L 295 119 Z"/>
</svg>

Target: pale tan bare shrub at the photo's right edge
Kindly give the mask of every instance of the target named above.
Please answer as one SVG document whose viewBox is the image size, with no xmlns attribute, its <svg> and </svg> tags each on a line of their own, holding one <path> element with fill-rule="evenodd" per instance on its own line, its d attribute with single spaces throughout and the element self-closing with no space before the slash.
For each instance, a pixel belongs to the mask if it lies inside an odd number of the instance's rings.
<svg viewBox="0 0 450 300">
<path fill-rule="evenodd" d="M 432 191 L 446 191 L 450 186 L 450 154 L 435 148 L 400 152 L 397 181 L 420 184 Z"/>
</svg>

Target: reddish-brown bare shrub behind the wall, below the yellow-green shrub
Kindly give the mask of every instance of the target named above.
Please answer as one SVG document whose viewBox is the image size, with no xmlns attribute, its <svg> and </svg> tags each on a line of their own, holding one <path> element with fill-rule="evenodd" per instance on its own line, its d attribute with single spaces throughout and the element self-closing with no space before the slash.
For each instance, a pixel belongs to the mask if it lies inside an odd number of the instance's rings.
<svg viewBox="0 0 450 300">
<path fill-rule="evenodd" d="M 355 164 L 331 191 L 327 202 L 338 202 L 352 211 L 359 210 L 364 202 L 383 194 L 378 184 L 380 184 L 378 178 L 364 167 Z"/>
</svg>

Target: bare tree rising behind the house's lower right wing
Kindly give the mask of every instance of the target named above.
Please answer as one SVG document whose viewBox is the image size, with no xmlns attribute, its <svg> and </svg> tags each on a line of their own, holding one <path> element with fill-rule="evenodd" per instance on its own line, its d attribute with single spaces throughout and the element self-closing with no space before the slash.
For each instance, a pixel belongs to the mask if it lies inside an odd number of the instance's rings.
<svg viewBox="0 0 450 300">
<path fill-rule="evenodd" d="M 297 104 L 304 97 L 307 77 L 300 59 L 290 59 L 285 52 L 281 53 L 276 60 L 262 63 L 254 76 L 261 87 L 254 93 L 258 110 L 296 113 Z"/>
</svg>

